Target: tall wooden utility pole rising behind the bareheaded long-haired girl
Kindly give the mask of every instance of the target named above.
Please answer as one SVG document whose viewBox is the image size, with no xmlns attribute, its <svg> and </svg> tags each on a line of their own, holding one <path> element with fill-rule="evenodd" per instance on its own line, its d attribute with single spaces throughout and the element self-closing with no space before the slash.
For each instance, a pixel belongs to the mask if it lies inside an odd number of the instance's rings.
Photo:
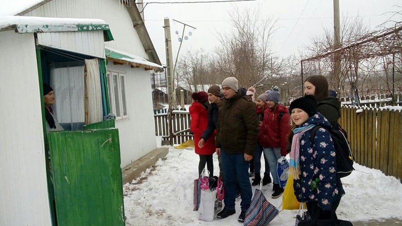
<svg viewBox="0 0 402 226">
<path fill-rule="evenodd" d="M 339 0 L 334 0 L 334 47 L 335 49 L 341 47 L 341 22 L 339 19 Z M 341 53 L 338 51 L 335 53 L 334 62 L 334 76 L 336 81 L 340 81 L 341 78 Z M 334 87 L 339 91 L 339 87 Z"/>
</svg>

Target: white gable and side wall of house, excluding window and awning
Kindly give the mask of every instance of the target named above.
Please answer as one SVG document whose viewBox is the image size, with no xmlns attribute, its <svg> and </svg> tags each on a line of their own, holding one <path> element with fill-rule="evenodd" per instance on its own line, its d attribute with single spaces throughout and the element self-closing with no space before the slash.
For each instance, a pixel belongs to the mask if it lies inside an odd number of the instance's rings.
<svg viewBox="0 0 402 226">
<path fill-rule="evenodd" d="M 114 41 L 105 47 L 131 53 L 148 59 L 141 40 L 133 27 L 127 10 L 116 0 L 53 0 L 25 16 L 102 19 L 111 29 Z M 126 101 L 129 118 L 116 121 L 119 129 L 122 168 L 156 149 L 150 71 L 113 65 L 126 73 Z"/>
</svg>

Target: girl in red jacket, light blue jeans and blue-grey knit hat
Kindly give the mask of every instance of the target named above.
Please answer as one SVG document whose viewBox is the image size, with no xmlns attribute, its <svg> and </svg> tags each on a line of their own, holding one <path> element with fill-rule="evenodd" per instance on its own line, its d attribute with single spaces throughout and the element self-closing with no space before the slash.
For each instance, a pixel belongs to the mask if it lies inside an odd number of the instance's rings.
<svg viewBox="0 0 402 226">
<path fill-rule="evenodd" d="M 267 95 L 268 108 L 264 111 L 264 120 L 260 127 L 258 142 L 264 149 L 273 179 L 272 198 L 279 197 L 283 188 L 279 186 L 276 162 L 281 156 L 287 155 L 287 135 L 290 132 L 289 110 L 279 104 L 279 92 L 270 90 Z"/>
</svg>

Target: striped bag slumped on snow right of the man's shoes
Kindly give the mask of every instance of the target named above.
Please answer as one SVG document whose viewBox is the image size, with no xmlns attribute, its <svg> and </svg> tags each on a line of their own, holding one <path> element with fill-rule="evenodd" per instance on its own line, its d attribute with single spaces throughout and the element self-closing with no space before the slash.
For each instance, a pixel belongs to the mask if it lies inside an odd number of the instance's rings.
<svg viewBox="0 0 402 226">
<path fill-rule="evenodd" d="M 246 211 L 244 218 L 245 226 L 262 226 L 272 221 L 278 215 L 279 210 L 268 202 L 260 189 L 255 189 L 253 199 L 251 199 L 250 207 Z"/>
</svg>

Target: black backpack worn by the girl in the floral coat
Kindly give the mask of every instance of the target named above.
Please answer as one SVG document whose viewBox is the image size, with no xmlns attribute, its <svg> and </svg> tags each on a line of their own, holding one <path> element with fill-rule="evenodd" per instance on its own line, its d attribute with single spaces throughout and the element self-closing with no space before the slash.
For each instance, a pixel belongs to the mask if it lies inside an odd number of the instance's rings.
<svg viewBox="0 0 402 226">
<path fill-rule="evenodd" d="M 322 126 L 320 125 L 313 127 L 310 135 L 310 142 L 312 144 L 314 144 L 314 138 L 316 137 L 317 130 L 321 127 Z M 342 178 L 349 176 L 354 168 L 353 155 L 350 151 L 348 134 L 340 125 L 335 125 L 331 129 L 325 129 L 330 132 L 332 141 L 334 142 L 336 153 L 336 166 L 339 177 Z"/>
</svg>

